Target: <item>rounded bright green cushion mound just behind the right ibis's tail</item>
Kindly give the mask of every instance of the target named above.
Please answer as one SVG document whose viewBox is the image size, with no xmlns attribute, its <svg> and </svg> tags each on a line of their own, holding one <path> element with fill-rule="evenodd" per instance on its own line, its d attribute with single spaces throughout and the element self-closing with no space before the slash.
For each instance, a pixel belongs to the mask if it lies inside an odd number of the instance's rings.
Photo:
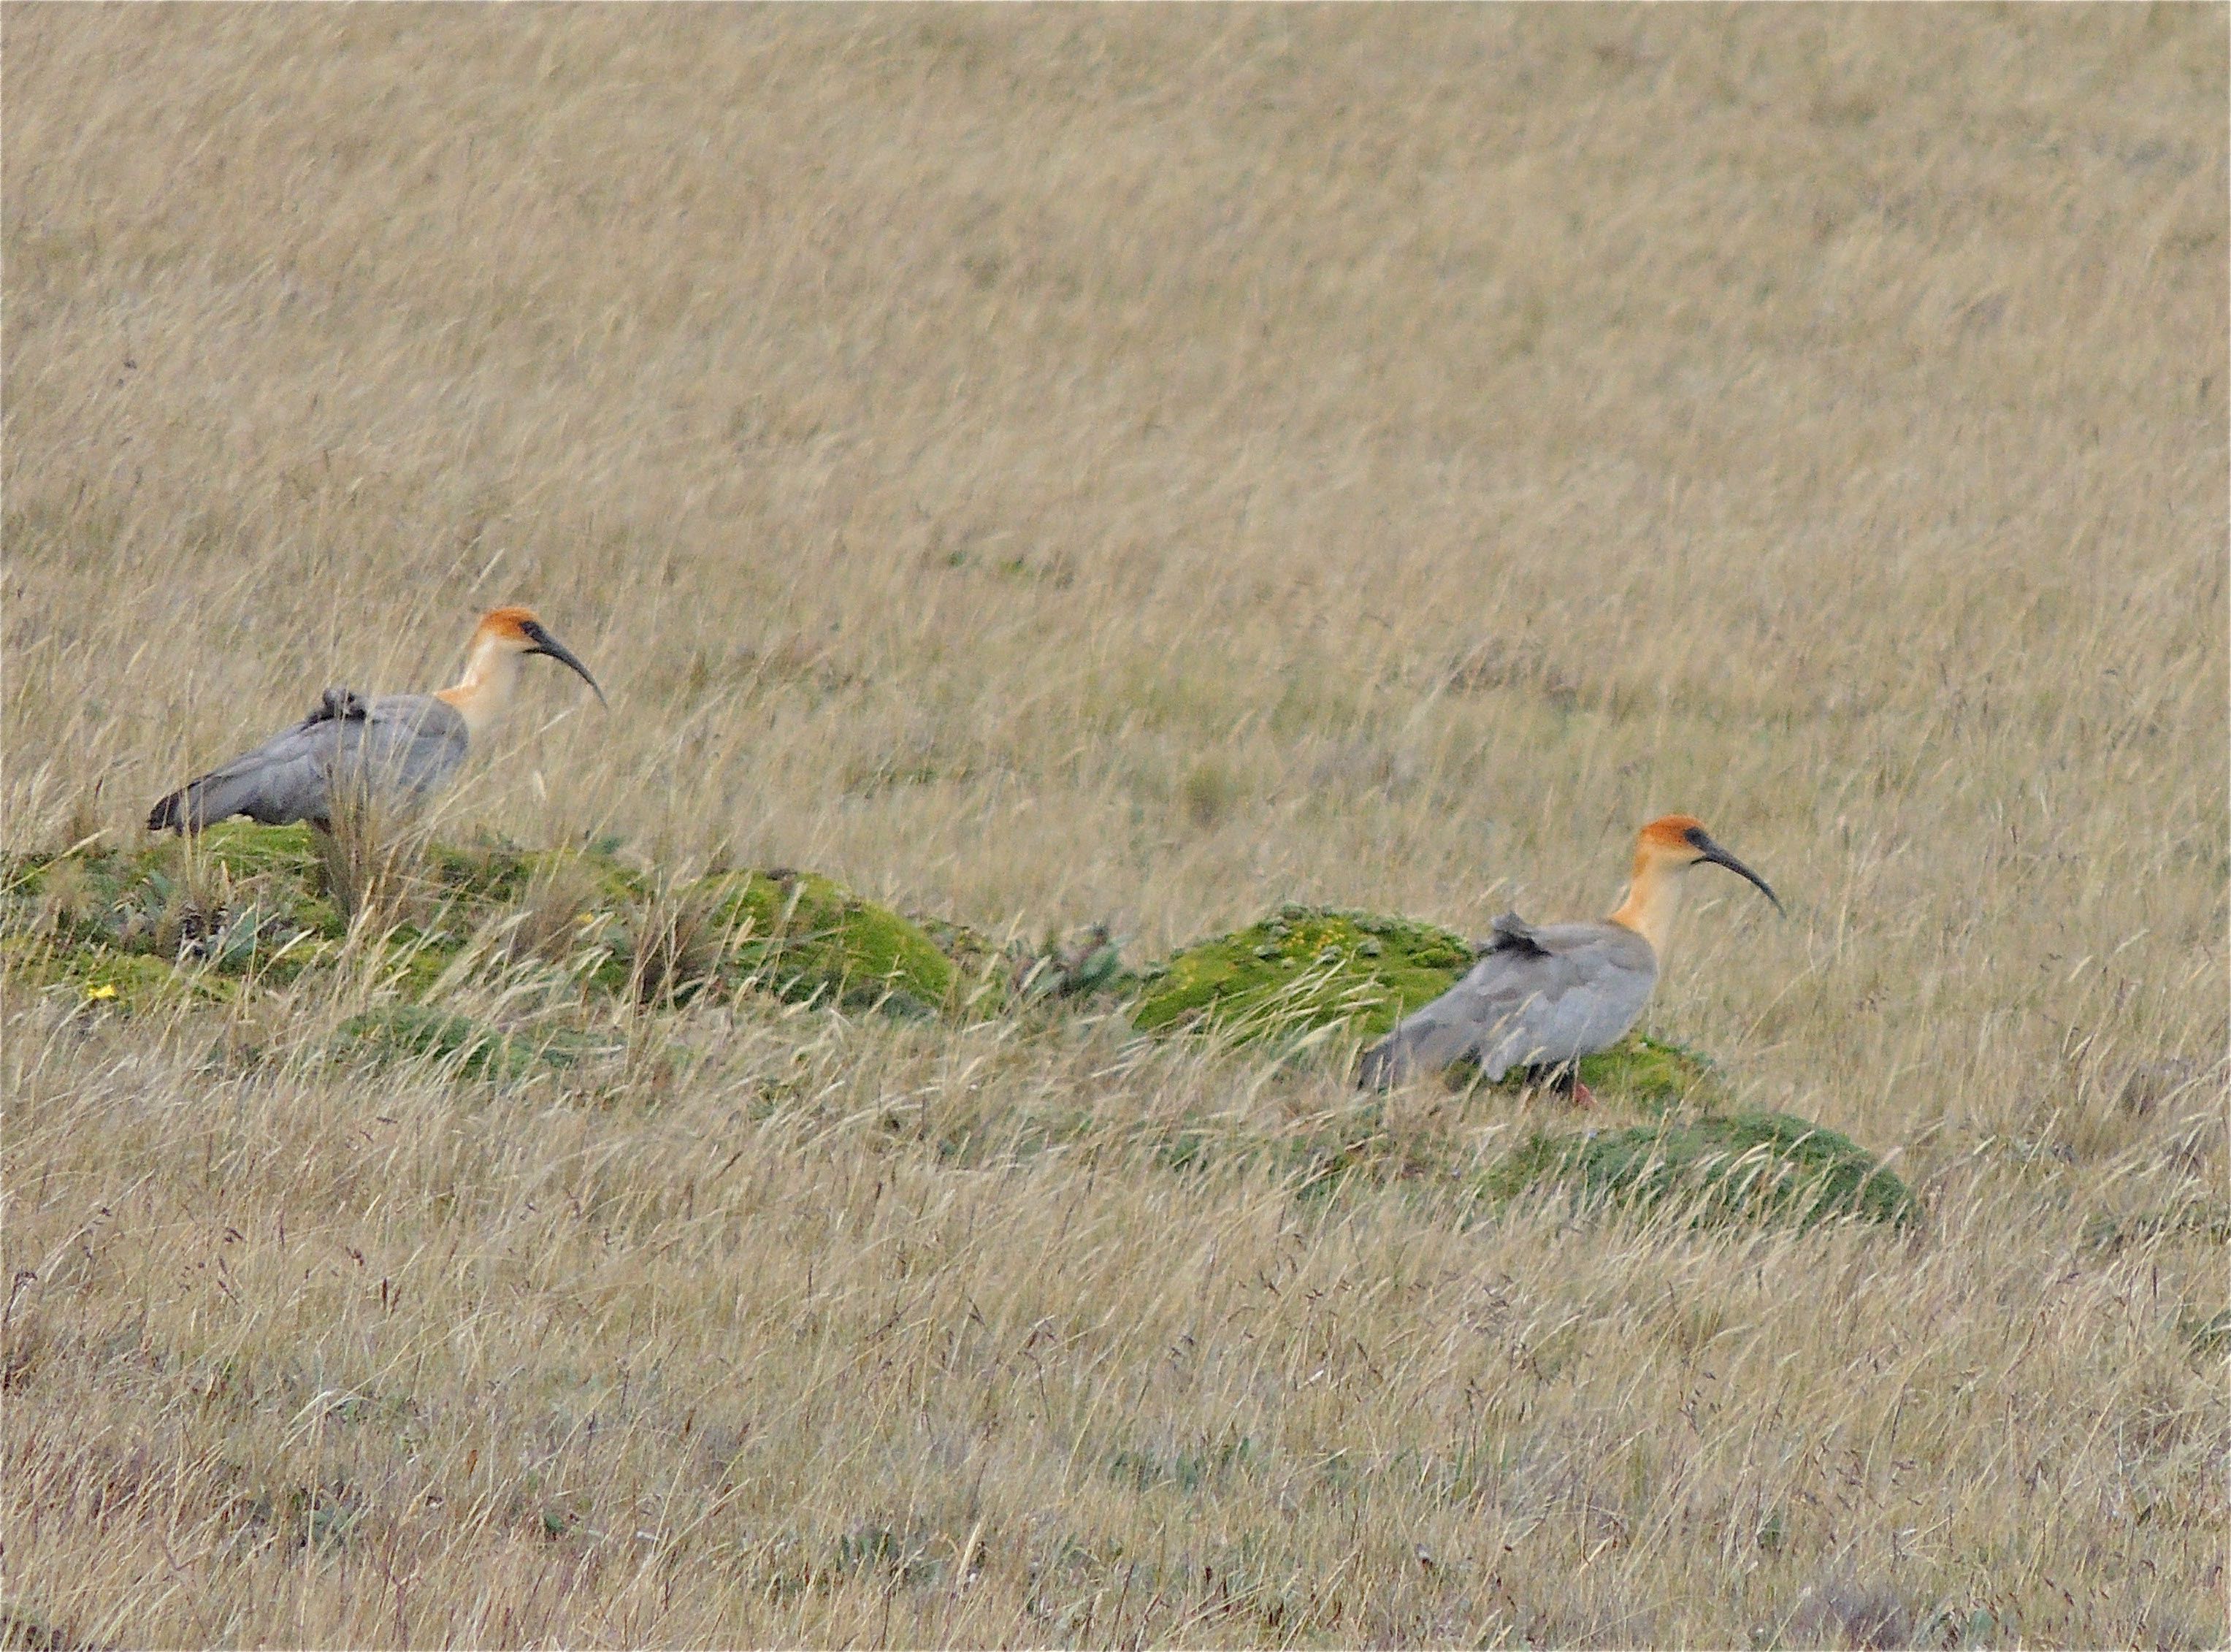
<svg viewBox="0 0 2231 1652">
<path fill-rule="evenodd" d="M 1381 913 L 1281 906 L 1140 971 L 1140 1031 L 1214 1029 L 1285 1040 L 1319 1027 L 1377 1038 L 1472 967 L 1455 931 Z"/>
</svg>

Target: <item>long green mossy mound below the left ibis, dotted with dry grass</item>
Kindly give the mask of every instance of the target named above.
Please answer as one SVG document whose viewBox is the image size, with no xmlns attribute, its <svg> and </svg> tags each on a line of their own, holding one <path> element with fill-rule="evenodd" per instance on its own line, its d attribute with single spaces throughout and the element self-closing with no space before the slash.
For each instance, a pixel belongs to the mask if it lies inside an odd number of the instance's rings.
<svg viewBox="0 0 2231 1652">
<path fill-rule="evenodd" d="M 243 822 L 132 851 L 9 857 L 0 935 L 18 978 L 71 980 L 125 1007 L 174 987 L 283 982 L 339 960 L 350 926 L 328 875 L 308 826 Z M 814 873 L 660 886 L 614 839 L 544 851 L 482 839 L 424 844 L 390 897 L 359 944 L 406 1000 L 426 998 L 471 938 L 498 962 L 556 964 L 591 998 L 685 1002 L 721 987 L 928 1016 L 970 996 L 964 967 L 917 922 Z M 953 933 L 973 944 L 973 931 Z"/>
</svg>

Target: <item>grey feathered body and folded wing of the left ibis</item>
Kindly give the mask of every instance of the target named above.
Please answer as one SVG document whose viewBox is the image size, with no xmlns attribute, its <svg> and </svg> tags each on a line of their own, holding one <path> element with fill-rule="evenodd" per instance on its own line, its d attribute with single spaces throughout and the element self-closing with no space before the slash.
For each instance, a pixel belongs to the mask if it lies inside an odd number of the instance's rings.
<svg viewBox="0 0 2231 1652">
<path fill-rule="evenodd" d="M 319 708 L 294 728 L 156 804 L 147 830 L 199 833 L 230 815 L 265 826 L 297 819 L 323 826 L 341 786 L 370 786 L 417 804 L 457 772 L 464 748 L 464 717 L 433 694 L 366 701 L 352 690 L 328 688 Z"/>
</svg>

